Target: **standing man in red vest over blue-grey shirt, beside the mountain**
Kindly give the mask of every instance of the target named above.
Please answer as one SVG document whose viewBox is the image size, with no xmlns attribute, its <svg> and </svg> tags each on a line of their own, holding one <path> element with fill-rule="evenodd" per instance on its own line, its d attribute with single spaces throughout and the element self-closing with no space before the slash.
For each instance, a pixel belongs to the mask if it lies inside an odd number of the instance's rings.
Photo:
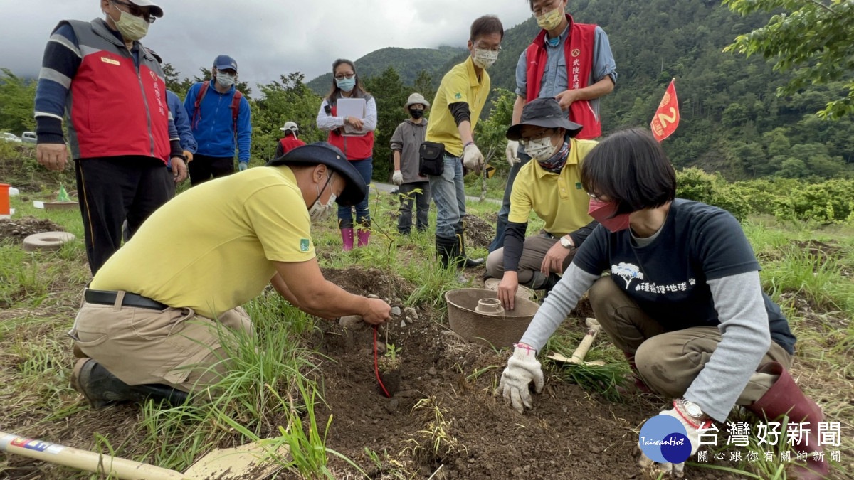
<svg viewBox="0 0 854 480">
<path fill-rule="evenodd" d="M 526 103 L 535 98 L 554 97 L 567 118 L 583 126 L 576 138 L 600 137 L 599 99 L 611 93 L 617 81 L 617 66 L 608 36 L 600 26 L 576 23 L 565 13 L 566 0 L 529 0 L 529 5 L 542 30 L 519 56 L 516 65 L 513 124 L 519 123 Z M 517 156 L 518 162 L 511 165 L 507 177 L 490 253 L 504 246 L 513 181 L 530 160 L 521 146 Z"/>
</svg>

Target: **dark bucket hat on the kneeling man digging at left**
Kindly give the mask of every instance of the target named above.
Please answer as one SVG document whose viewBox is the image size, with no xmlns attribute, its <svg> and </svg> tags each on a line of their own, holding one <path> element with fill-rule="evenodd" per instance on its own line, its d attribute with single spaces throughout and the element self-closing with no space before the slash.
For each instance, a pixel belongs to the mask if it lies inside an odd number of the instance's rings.
<svg viewBox="0 0 854 480">
<path fill-rule="evenodd" d="M 335 145 L 327 142 L 315 142 L 296 147 L 288 153 L 268 161 L 267 167 L 277 165 L 319 165 L 324 164 L 333 172 L 341 175 L 347 182 L 341 196 L 335 202 L 342 207 L 352 207 L 365 200 L 368 187 L 356 167 L 347 160 Z"/>
</svg>

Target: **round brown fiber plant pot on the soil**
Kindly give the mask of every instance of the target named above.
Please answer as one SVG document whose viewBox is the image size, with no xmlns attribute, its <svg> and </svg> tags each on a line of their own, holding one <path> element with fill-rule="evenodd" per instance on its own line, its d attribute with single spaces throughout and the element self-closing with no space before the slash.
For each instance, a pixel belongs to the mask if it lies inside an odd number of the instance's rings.
<svg viewBox="0 0 854 480">
<path fill-rule="evenodd" d="M 445 301 L 451 330 L 468 342 L 495 348 L 511 347 L 522 338 L 540 306 L 534 301 L 516 297 L 515 308 L 512 310 L 496 309 L 495 299 L 494 290 L 447 291 Z"/>
</svg>

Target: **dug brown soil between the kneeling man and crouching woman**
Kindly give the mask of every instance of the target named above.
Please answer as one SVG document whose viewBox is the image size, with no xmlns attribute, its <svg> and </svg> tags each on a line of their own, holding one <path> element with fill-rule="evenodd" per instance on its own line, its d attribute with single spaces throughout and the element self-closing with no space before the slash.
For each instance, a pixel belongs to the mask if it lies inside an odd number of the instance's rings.
<svg viewBox="0 0 854 480">
<path fill-rule="evenodd" d="M 325 275 L 357 294 L 394 283 L 379 271 Z M 332 415 L 328 448 L 370 467 L 366 472 L 375 478 L 390 478 L 395 464 L 372 465 L 366 448 L 386 452 L 406 471 L 418 471 L 418 478 L 641 477 L 636 431 L 663 401 L 613 403 L 549 378 L 535 409 L 516 413 L 493 395 L 509 352 L 466 343 L 436 313 L 416 313 L 418 319 L 403 313 L 402 322 L 378 331 L 380 350 L 383 342 L 401 348 L 401 390 L 392 398 L 378 388 L 374 331 L 325 331 L 319 350 L 328 359 L 320 379 L 328 409 L 319 412 L 318 424 Z M 339 477 L 355 475 L 343 460 L 330 465 Z M 694 478 L 707 472 L 687 469 Z"/>
</svg>

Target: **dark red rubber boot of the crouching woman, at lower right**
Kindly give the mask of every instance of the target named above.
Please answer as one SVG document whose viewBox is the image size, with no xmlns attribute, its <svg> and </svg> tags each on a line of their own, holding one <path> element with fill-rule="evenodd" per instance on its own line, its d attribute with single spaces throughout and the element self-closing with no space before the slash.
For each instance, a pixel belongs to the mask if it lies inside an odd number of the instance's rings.
<svg viewBox="0 0 854 480">
<path fill-rule="evenodd" d="M 748 410 L 756 413 L 763 420 L 776 420 L 787 415 L 789 423 L 809 422 L 808 425 L 804 424 L 804 430 L 809 427 L 807 435 L 802 437 L 800 442 L 792 444 L 796 452 L 808 453 L 806 464 L 793 465 L 789 478 L 817 480 L 827 477 L 830 469 L 828 460 L 824 459 L 824 455 L 821 455 L 822 460 L 817 460 L 812 455 L 813 452 L 818 454 L 823 452 L 822 446 L 819 445 L 818 436 L 818 423 L 824 420 L 822 408 L 804 395 L 804 392 L 801 391 L 798 384 L 780 363 L 775 361 L 766 363 L 759 367 L 757 373 L 779 375 L 780 378 L 777 378 L 777 381 L 765 392 L 765 395 L 762 395 L 762 398 L 748 406 Z M 781 430 L 783 430 L 782 427 Z M 789 444 L 788 441 L 784 443 L 782 439 L 780 443 L 781 445 Z"/>
</svg>

